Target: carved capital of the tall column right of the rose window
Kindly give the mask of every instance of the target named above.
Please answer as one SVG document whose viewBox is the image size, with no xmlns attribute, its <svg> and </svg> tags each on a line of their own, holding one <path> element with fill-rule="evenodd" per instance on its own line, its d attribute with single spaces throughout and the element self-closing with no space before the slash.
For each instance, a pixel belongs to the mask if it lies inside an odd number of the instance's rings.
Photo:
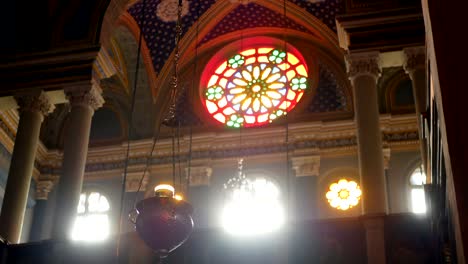
<svg viewBox="0 0 468 264">
<path fill-rule="evenodd" d="M 345 55 L 350 80 L 359 76 L 371 76 L 376 80 L 382 73 L 378 52 L 350 53 Z"/>
</svg>

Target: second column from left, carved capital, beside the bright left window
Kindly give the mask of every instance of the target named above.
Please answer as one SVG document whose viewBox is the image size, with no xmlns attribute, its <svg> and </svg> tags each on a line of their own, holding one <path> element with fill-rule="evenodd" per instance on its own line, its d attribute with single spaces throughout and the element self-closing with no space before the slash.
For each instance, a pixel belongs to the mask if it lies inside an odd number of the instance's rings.
<svg viewBox="0 0 468 264">
<path fill-rule="evenodd" d="M 57 204 L 52 238 L 66 240 L 73 227 L 83 185 L 91 119 L 104 100 L 96 84 L 65 89 L 70 103 L 65 128 L 62 175 L 57 184 Z"/>
</svg>

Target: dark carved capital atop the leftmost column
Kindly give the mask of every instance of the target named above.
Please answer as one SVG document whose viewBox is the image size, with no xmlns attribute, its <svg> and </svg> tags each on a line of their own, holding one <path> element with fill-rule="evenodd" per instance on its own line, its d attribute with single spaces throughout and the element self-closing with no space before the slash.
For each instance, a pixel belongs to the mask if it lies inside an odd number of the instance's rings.
<svg viewBox="0 0 468 264">
<path fill-rule="evenodd" d="M 55 109 L 55 106 L 44 92 L 16 95 L 15 100 L 18 103 L 20 112 L 40 112 L 45 116 Z"/>
</svg>

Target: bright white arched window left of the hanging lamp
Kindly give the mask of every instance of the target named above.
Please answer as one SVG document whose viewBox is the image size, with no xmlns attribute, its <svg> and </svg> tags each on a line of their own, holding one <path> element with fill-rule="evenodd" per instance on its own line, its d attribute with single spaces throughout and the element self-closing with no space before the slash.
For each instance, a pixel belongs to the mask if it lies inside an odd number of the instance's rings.
<svg viewBox="0 0 468 264">
<path fill-rule="evenodd" d="M 99 192 L 80 195 L 72 239 L 102 241 L 109 236 L 109 201 Z"/>
</svg>

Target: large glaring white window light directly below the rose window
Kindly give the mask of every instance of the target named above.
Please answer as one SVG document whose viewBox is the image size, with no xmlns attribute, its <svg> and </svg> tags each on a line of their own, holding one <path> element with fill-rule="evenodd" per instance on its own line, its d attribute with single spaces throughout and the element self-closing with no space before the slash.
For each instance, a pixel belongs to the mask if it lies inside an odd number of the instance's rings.
<svg viewBox="0 0 468 264">
<path fill-rule="evenodd" d="M 253 236 L 278 230 L 284 210 L 278 187 L 265 178 L 232 189 L 222 211 L 222 225 L 232 235 Z"/>
</svg>

